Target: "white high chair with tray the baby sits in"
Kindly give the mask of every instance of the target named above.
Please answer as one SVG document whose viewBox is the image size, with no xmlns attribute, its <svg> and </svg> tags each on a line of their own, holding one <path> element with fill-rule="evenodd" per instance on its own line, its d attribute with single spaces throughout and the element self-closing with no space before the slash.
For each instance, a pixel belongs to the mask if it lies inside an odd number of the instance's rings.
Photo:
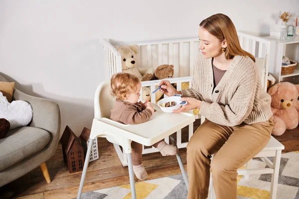
<svg viewBox="0 0 299 199">
<path fill-rule="evenodd" d="M 145 146 L 151 146 L 157 141 L 170 136 L 172 145 L 176 146 L 172 133 L 193 123 L 195 117 L 190 113 L 165 113 L 156 104 L 152 103 L 156 112 L 150 117 L 149 121 L 136 125 L 126 125 L 109 119 L 114 102 L 115 99 L 110 95 L 110 80 L 101 83 L 95 94 L 95 118 L 91 127 L 86 157 L 90 156 L 93 140 L 97 137 L 106 137 L 109 142 L 121 145 L 127 153 L 132 199 L 136 199 L 131 142 L 135 141 Z M 176 158 L 188 189 L 189 182 L 179 153 L 176 154 Z M 77 199 L 81 199 L 88 163 L 88 158 L 85 158 Z"/>
</svg>

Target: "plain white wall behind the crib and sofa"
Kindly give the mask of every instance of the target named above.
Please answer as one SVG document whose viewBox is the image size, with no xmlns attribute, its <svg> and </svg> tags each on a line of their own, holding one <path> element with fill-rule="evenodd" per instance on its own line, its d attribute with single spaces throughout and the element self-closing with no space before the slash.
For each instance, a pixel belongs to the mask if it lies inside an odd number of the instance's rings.
<svg viewBox="0 0 299 199">
<path fill-rule="evenodd" d="M 196 37 L 200 21 L 219 12 L 239 31 L 267 35 L 282 11 L 299 15 L 299 1 L 0 0 L 0 74 L 57 101 L 61 129 L 78 135 L 91 127 L 94 92 L 105 80 L 102 38 Z"/>
</svg>

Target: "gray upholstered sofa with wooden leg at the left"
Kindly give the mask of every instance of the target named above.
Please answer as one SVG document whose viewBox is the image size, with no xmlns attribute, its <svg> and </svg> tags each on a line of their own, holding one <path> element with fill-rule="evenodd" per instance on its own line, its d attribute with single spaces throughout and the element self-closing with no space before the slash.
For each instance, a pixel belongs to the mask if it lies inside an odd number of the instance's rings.
<svg viewBox="0 0 299 199">
<path fill-rule="evenodd" d="M 7 82 L 0 75 L 0 82 Z M 14 89 L 12 100 L 31 104 L 33 118 L 28 126 L 8 131 L 0 139 L 0 187 L 38 166 L 50 183 L 45 162 L 54 156 L 60 138 L 60 112 L 57 103 L 26 95 Z"/>
</svg>

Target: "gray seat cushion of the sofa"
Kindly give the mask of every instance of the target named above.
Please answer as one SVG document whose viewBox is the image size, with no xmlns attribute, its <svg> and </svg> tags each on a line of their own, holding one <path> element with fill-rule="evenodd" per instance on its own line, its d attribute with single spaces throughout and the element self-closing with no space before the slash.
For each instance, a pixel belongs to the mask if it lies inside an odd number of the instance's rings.
<svg viewBox="0 0 299 199">
<path fill-rule="evenodd" d="M 8 131 L 0 139 L 0 171 L 43 149 L 50 134 L 41 128 L 24 126 Z"/>
</svg>

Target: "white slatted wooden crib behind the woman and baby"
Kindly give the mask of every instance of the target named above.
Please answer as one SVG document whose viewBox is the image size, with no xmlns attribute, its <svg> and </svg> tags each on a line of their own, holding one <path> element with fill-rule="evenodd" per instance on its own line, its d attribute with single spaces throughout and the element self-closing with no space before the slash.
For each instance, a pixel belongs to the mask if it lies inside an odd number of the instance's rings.
<svg viewBox="0 0 299 199">
<path fill-rule="evenodd" d="M 270 54 L 270 41 L 260 37 L 248 35 L 238 32 L 241 47 L 253 54 L 257 61 L 262 61 L 261 83 L 265 91 L 267 90 L 268 68 L 269 68 L 269 54 Z M 140 46 L 140 53 L 137 55 L 137 66 L 157 67 L 161 64 L 174 65 L 174 78 L 168 79 L 170 83 L 176 83 L 177 90 L 191 87 L 191 80 L 193 75 L 193 67 L 196 55 L 199 53 L 198 38 L 183 38 L 172 40 L 159 40 L 159 41 L 145 41 L 145 42 L 132 42 L 132 43 L 110 43 L 109 40 L 104 39 L 104 60 L 105 70 L 109 78 L 115 73 L 122 72 L 121 55 L 116 50 L 116 46 L 137 44 Z M 160 80 L 142 82 L 142 87 L 150 87 L 151 92 L 155 90 Z M 141 91 L 142 92 L 142 91 Z M 141 95 L 142 96 L 142 95 Z M 141 100 L 141 99 L 140 99 Z M 151 101 L 156 101 L 155 95 L 151 96 Z M 198 114 L 196 110 L 190 110 L 191 113 L 196 114 L 196 119 L 204 118 Z M 188 140 L 193 134 L 193 124 L 189 125 Z M 169 138 L 165 138 L 165 142 L 169 143 Z M 181 141 L 181 130 L 176 132 L 176 143 L 178 148 L 184 148 L 188 142 Z M 116 152 L 123 164 L 127 166 L 127 156 L 123 153 L 118 145 L 114 145 Z M 157 152 L 155 148 L 146 148 L 143 154 Z"/>
</svg>

